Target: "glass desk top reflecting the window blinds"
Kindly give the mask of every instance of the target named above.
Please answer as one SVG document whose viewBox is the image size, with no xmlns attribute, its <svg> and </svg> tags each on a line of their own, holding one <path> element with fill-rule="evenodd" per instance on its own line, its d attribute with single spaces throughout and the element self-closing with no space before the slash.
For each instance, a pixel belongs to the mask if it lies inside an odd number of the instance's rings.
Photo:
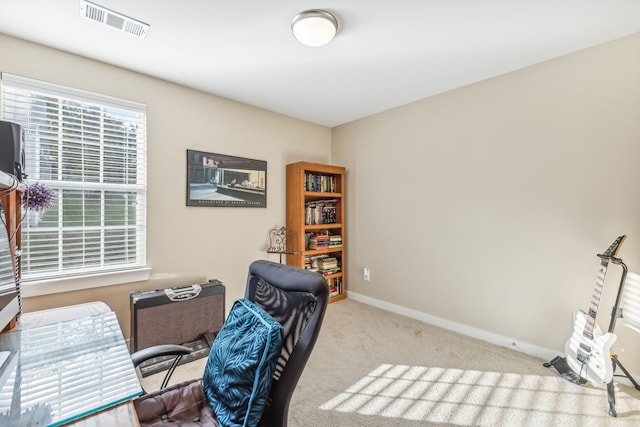
<svg viewBox="0 0 640 427">
<path fill-rule="evenodd" d="M 113 312 L 0 334 L 2 426 L 58 426 L 140 394 Z"/>
</svg>

